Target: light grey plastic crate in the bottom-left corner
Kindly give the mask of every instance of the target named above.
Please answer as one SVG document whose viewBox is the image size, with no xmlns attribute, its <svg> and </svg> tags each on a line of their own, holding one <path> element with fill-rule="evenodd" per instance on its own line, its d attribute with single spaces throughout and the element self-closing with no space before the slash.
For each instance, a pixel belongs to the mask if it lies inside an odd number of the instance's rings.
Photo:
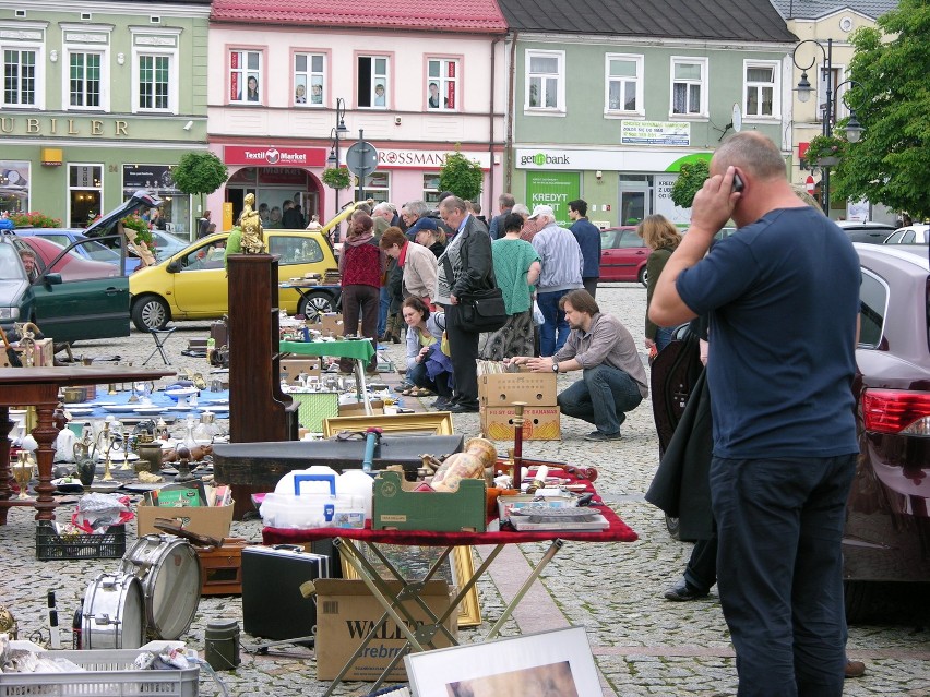
<svg viewBox="0 0 930 697">
<path fill-rule="evenodd" d="M 138 671 L 132 662 L 142 651 L 53 651 L 86 672 L 2 673 L 0 697 L 196 697 L 200 666 L 182 671 Z"/>
</svg>

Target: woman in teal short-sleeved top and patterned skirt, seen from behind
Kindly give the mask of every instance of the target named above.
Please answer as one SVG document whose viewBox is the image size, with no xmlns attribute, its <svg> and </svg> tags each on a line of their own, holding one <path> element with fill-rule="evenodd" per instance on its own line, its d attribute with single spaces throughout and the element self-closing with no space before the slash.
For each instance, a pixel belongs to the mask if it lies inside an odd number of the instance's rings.
<svg viewBox="0 0 930 697">
<path fill-rule="evenodd" d="M 503 223 L 505 236 L 491 243 L 491 256 L 510 316 L 497 332 L 481 335 L 478 356 L 488 361 L 533 356 L 533 292 L 542 271 L 539 254 L 529 242 L 520 239 L 523 216 L 511 213 Z"/>
</svg>

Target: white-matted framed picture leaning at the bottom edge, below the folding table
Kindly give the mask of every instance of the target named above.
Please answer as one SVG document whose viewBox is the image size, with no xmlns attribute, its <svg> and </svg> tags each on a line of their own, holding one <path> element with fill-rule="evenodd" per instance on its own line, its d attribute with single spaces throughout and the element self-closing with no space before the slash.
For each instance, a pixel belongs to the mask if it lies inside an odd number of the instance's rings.
<svg viewBox="0 0 930 697">
<path fill-rule="evenodd" d="M 414 697 L 603 693 L 584 627 L 409 653 L 404 663 Z"/>
</svg>

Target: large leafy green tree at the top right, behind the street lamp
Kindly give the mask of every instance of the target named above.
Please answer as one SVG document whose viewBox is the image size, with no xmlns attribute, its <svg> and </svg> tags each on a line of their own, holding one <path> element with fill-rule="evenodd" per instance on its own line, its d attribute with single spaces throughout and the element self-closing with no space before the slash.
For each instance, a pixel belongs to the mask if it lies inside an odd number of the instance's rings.
<svg viewBox="0 0 930 697">
<path fill-rule="evenodd" d="M 921 219 L 930 215 L 930 5 L 901 0 L 851 43 L 849 75 L 858 85 L 845 103 L 866 130 L 833 169 L 833 191 Z"/>
</svg>

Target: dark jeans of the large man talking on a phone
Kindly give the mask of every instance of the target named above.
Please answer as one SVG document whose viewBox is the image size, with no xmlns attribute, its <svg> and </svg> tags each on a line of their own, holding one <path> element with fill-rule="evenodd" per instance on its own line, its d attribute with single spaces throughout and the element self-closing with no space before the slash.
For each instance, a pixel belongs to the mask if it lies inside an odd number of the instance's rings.
<svg viewBox="0 0 930 697">
<path fill-rule="evenodd" d="M 840 544 L 856 455 L 711 462 L 717 588 L 740 697 L 839 697 Z"/>
</svg>

